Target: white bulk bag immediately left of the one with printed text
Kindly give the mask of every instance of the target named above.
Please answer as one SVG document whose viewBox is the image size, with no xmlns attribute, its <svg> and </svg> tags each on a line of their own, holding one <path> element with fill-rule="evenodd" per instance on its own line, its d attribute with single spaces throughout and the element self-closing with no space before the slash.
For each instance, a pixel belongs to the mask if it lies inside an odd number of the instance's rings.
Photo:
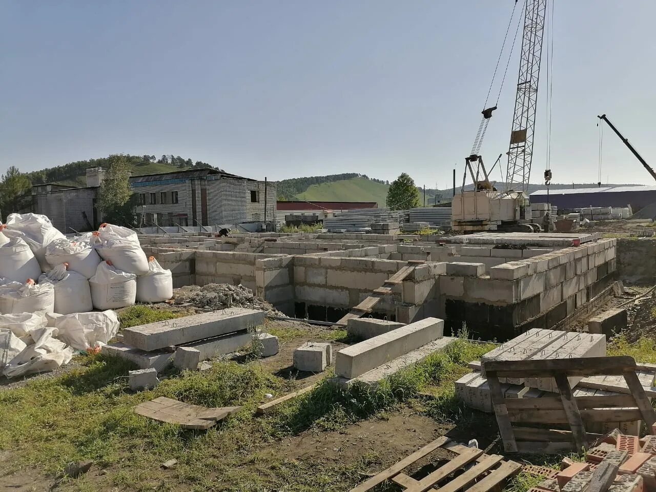
<svg viewBox="0 0 656 492">
<path fill-rule="evenodd" d="M 91 289 L 87 277 L 67 270 L 68 263 L 52 268 L 39 277 L 39 285 L 54 287 L 54 312 L 57 314 L 84 313 L 93 310 Z"/>
</svg>

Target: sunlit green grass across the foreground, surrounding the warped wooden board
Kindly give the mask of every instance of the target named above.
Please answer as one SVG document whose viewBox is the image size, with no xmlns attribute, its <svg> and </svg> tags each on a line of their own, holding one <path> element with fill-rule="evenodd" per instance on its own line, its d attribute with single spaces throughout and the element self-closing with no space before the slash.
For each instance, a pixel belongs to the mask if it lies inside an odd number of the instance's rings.
<svg viewBox="0 0 656 492">
<path fill-rule="evenodd" d="M 325 331 L 331 338 L 342 335 L 338 332 Z M 342 491 L 361 482 L 365 470 L 380 468 L 376 451 L 339 464 L 295 460 L 285 456 L 289 438 L 305 430 L 339 430 L 401 405 L 455 422 L 462 408 L 453 400 L 453 380 L 490 348 L 454 342 L 374 391 L 344 392 L 326 379 L 259 418 L 253 412 L 265 393 L 286 394 L 302 383 L 276 377 L 256 360 L 222 361 L 209 371 L 169 371 L 154 390 L 132 393 L 125 378 L 129 363 L 84 356 L 82 367 L 66 375 L 0 392 L 0 449 L 10 451 L 12 459 L 0 463 L 0 472 L 28 466 L 53 476 L 70 461 L 91 459 L 105 472 L 95 480 L 120 490 Z M 417 397 L 428 386 L 438 398 L 424 404 Z M 134 405 L 158 396 L 243 409 L 207 431 L 182 430 L 133 413 Z M 178 465 L 163 474 L 159 463 L 171 458 Z M 67 480 L 59 490 L 97 490 L 93 480 Z"/>
</svg>

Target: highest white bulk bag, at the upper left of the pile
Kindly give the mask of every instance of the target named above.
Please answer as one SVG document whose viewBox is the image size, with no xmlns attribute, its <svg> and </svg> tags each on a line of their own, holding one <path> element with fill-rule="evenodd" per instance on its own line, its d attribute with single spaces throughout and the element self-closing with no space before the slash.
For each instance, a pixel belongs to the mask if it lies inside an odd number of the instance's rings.
<svg viewBox="0 0 656 492">
<path fill-rule="evenodd" d="M 5 224 L 5 236 L 20 237 L 30 246 L 37 258 L 41 270 L 49 268 L 45 260 L 45 248 L 55 239 L 64 239 L 64 234 L 52 226 L 52 222 L 45 215 L 37 214 L 9 214 Z M 23 280 L 24 281 L 24 280 Z"/>
</svg>

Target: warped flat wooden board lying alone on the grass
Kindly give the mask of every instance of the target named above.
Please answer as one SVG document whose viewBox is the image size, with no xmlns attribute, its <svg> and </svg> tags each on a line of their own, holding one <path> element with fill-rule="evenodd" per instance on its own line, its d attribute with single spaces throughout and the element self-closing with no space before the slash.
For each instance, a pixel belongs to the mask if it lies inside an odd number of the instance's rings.
<svg viewBox="0 0 656 492">
<path fill-rule="evenodd" d="M 155 400 L 144 401 L 134 407 L 134 413 L 148 417 L 149 419 L 178 424 L 185 429 L 208 429 L 218 420 L 232 415 L 241 407 L 218 407 L 208 408 L 182 401 L 172 400 L 165 396 Z"/>
</svg>

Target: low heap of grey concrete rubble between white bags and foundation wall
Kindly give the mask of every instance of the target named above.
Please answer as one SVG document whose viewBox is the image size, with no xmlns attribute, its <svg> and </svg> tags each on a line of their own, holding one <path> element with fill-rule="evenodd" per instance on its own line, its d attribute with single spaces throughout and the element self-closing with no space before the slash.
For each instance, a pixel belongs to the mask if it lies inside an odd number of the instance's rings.
<svg viewBox="0 0 656 492">
<path fill-rule="evenodd" d="M 197 308 L 226 309 L 240 307 L 275 311 L 271 304 L 260 297 L 256 297 L 248 287 L 228 283 L 209 283 L 203 285 L 203 287 L 197 285 L 180 287 L 180 289 L 174 289 L 173 299 L 175 304 L 191 303 Z"/>
</svg>

